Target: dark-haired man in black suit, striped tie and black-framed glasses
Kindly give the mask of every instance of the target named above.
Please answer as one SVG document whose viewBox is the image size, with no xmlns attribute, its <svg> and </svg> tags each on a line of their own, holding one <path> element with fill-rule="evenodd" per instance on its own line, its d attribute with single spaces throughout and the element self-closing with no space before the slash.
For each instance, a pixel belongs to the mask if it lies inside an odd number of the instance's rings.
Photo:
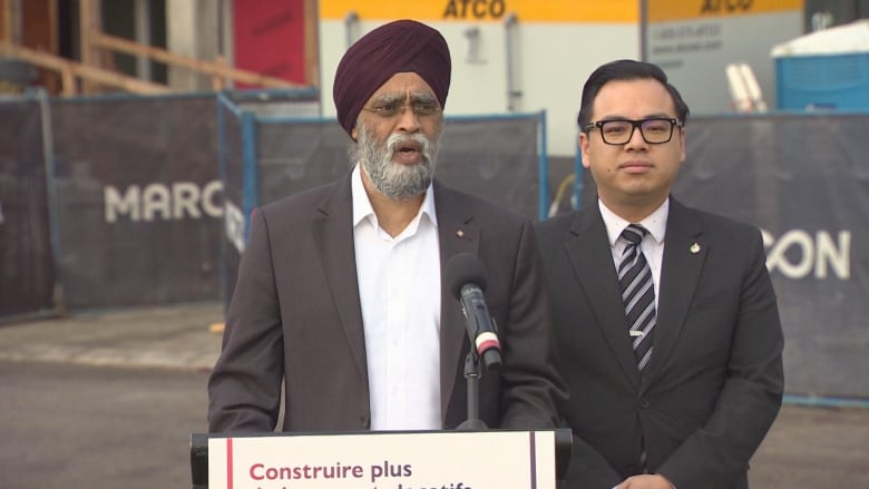
<svg viewBox="0 0 869 489">
<path fill-rule="evenodd" d="M 585 84 L 596 205 L 537 225 L 574 431 L 572 489 L 744 489 L 781 405 L 760 232 L 671 195 L 689 108 L 658 67 Z"/>
</svg>

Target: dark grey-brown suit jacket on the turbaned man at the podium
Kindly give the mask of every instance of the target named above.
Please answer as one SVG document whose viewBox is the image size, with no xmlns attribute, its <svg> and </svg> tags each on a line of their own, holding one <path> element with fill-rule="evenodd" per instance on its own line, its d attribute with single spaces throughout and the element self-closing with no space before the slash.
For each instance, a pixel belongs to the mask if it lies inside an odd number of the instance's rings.
<svg viewBox="0 0 869 489">
<path fill-rule="evenodd" d="M 358 431 L 371 410 L 353 252 L 350 174 L 254 213 L 209 382 L 212 432 L 271 431 L 286 382 L 284 431 Z M 441 271 L 461 252 L 480 257 L 502 346 L 484 371 L 489 428 L 550 428 L 566 393 L 554 362 L 548 299 L 529 221 L 434 183 Z M 441 291 L 443 428 L 467 418 L 469 350 L 459 302 Z"/>
</svg>

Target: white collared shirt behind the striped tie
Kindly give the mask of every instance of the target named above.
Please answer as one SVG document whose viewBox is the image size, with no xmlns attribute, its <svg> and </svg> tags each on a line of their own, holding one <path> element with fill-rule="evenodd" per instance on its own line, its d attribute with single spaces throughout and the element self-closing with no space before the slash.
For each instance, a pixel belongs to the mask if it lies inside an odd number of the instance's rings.
<svg viewBox="0 0 869 489">
<path fill-rule="evenodd" d="M 622 252 L 627 246 L 627 241 L 622 237 L 622 232 L 625 231 L 625 227 L 628 224 L 642 224 L 643 227 L 648 229 L 648 234 L 639 243 L 639 248 L 643 251 L 646 262 L 648 262 L 648 267 L 652 268 L 652 282 L 655 284 L 655 309 L 657 309 L 661 263 L 664 261 L 664 235 L 666 234 L 667 216 L 670 215 L 670 198 L 664 201 L 661 207 L 656 208 L 655 212 L 639 223 L 631 223 L 615 215 L 599 198 L 597 199 L 597 205 L 601 208 L 601 215 L 604 217 L 606 234 L 609 237 L 609 250 L 613 252 L 613 264 L 616 270 L 618 270 L 618 264 L 622 262 Z"/>
</svg>

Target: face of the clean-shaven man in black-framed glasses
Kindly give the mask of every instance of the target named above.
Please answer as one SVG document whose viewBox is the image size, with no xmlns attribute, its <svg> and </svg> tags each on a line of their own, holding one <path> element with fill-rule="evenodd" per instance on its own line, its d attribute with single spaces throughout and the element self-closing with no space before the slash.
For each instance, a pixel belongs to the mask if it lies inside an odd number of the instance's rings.
<svg viewBox="0 0 869 489">
<path fill-rule="evenodd" d="M 650 118 L 676 118 L 673 99 L 657 80 L 613 80 L 595 97 L 592 123 Z M 654 211 L 670 195 L 685 160 L 684 129 L 674 127 L 673 137 L 663 144 L 646 143 L 639 128 L 633 129 L 627 143 L 618 145 L 604 143 L 601 133 L 596 127 L 579 135 L 583 166 L 590 169 L 601 199 L 614 211 Z"/>
</svg>

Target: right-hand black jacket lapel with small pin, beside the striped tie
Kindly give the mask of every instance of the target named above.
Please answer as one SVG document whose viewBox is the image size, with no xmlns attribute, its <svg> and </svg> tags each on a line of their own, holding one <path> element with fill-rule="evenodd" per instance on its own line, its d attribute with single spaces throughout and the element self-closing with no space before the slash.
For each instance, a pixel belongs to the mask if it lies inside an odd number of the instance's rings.
<svg viewBox="0 0 869 489">
<path fill-rule="evenodd" d="M 671 197 L 658 286 L 657 324 L 653 343 L 655 350 L 646 366 L 646 384 L 661 372 L 678 340 L 709 246 L 687 208 Z"/>
</svg>

